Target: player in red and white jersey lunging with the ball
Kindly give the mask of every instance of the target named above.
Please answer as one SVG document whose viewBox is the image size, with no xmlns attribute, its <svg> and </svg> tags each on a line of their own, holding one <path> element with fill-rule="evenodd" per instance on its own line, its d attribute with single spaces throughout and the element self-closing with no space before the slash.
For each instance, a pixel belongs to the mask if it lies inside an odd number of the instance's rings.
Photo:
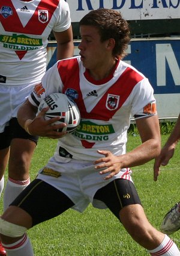
<svg viewBox="0 0 180 256">
<path fill-rule="evenodd" d="M 26 131 L 59 140 L 54 156 L 0 218 L 7 255 L 34 255 L 27 229 L 68 208 L 82 212 L 91 202 L 108 207 L 149 254 L 179 256 L 175 243 L 149 223 L 131 180 L 129 167 L 160 154 L 160 127 L 148 79 L 122 61 L 128 23 L 118 11 L 94 10 L 80 20 L 80 34 L 80 56 L 47 70 L 18 111 Z M 41 100 L 53 92 L 65 93 L 79 107 L 81 122 L 73 134 L 56 131 L 65 123 L 51 125 L 60 117 L 44 120 L 47 108 L 36 116 Z M 126 153 L 131 116 L 142 144 Z"/>
</svg>

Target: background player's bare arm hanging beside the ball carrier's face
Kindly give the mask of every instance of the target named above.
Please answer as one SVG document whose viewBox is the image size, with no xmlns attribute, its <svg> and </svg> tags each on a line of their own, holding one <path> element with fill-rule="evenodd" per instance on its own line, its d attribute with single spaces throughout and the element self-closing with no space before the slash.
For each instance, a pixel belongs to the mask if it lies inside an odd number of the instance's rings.
<svg viewBox="0 0 180 256">
<path fill-rule="evenodd" d="M 70 26 L 67 30 L 62 32 L 53 31 L 57 41 L 57 60 L 73 57 L 74 44 L 73 44 L 73 31 Z"/>
</svg>

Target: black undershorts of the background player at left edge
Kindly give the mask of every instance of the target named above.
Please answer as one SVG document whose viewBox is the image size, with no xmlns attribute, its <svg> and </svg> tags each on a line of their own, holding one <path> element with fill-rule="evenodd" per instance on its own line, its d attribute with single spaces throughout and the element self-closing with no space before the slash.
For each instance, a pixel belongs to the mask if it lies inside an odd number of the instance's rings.
<svg viewBox="0 0 180 256">
<path fill-rule="evenodd" d="M 19 138 L 25 140 L 32 140 L 37 144 L 38 136 L 32 136 L 22 128 L 17 122 L 17 118 L 14 117 L 10 120 L 9 125 L 5 127 L 3 133 L 0 133 L 0 150 L 8 148 L 11 144 L 11 140 Z"/>
</svg>

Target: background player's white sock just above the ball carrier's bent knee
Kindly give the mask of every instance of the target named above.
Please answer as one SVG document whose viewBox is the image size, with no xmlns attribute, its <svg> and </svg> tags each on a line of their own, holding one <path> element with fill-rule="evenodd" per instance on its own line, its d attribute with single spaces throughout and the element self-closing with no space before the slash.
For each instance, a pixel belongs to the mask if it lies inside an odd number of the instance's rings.
<svg viewBox="0 0 180 256">
<path fill-rule="evenodd" d="M 30 183 L 30 179 L 26 181 L 15 181 L 8 178 L 4 190 L 4 211 L 13 202 L 13 200 L 22 192 Z"/>
</svg>

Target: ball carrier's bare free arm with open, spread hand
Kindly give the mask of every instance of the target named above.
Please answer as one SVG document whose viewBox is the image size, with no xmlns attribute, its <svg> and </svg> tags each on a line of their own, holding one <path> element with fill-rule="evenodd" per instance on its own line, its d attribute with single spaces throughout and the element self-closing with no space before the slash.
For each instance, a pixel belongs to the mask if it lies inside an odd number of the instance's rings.
<svg viewBox="0 0 180 256">
<path fill-rule="evenodd" d="M 160 154 L 161 136 L 158 116 L 143 117 L 136 120 L 142 144 L 124 155 L 115 156 L 110 151 L 98 151 L 104 157 L 94 162 L 95 169 L 100 170 L 100 174 L 108 173 L 105 180 L 112 178 L 120 169 L 126 167 L 139 166 L 147 163 Z"/>
</svg>

